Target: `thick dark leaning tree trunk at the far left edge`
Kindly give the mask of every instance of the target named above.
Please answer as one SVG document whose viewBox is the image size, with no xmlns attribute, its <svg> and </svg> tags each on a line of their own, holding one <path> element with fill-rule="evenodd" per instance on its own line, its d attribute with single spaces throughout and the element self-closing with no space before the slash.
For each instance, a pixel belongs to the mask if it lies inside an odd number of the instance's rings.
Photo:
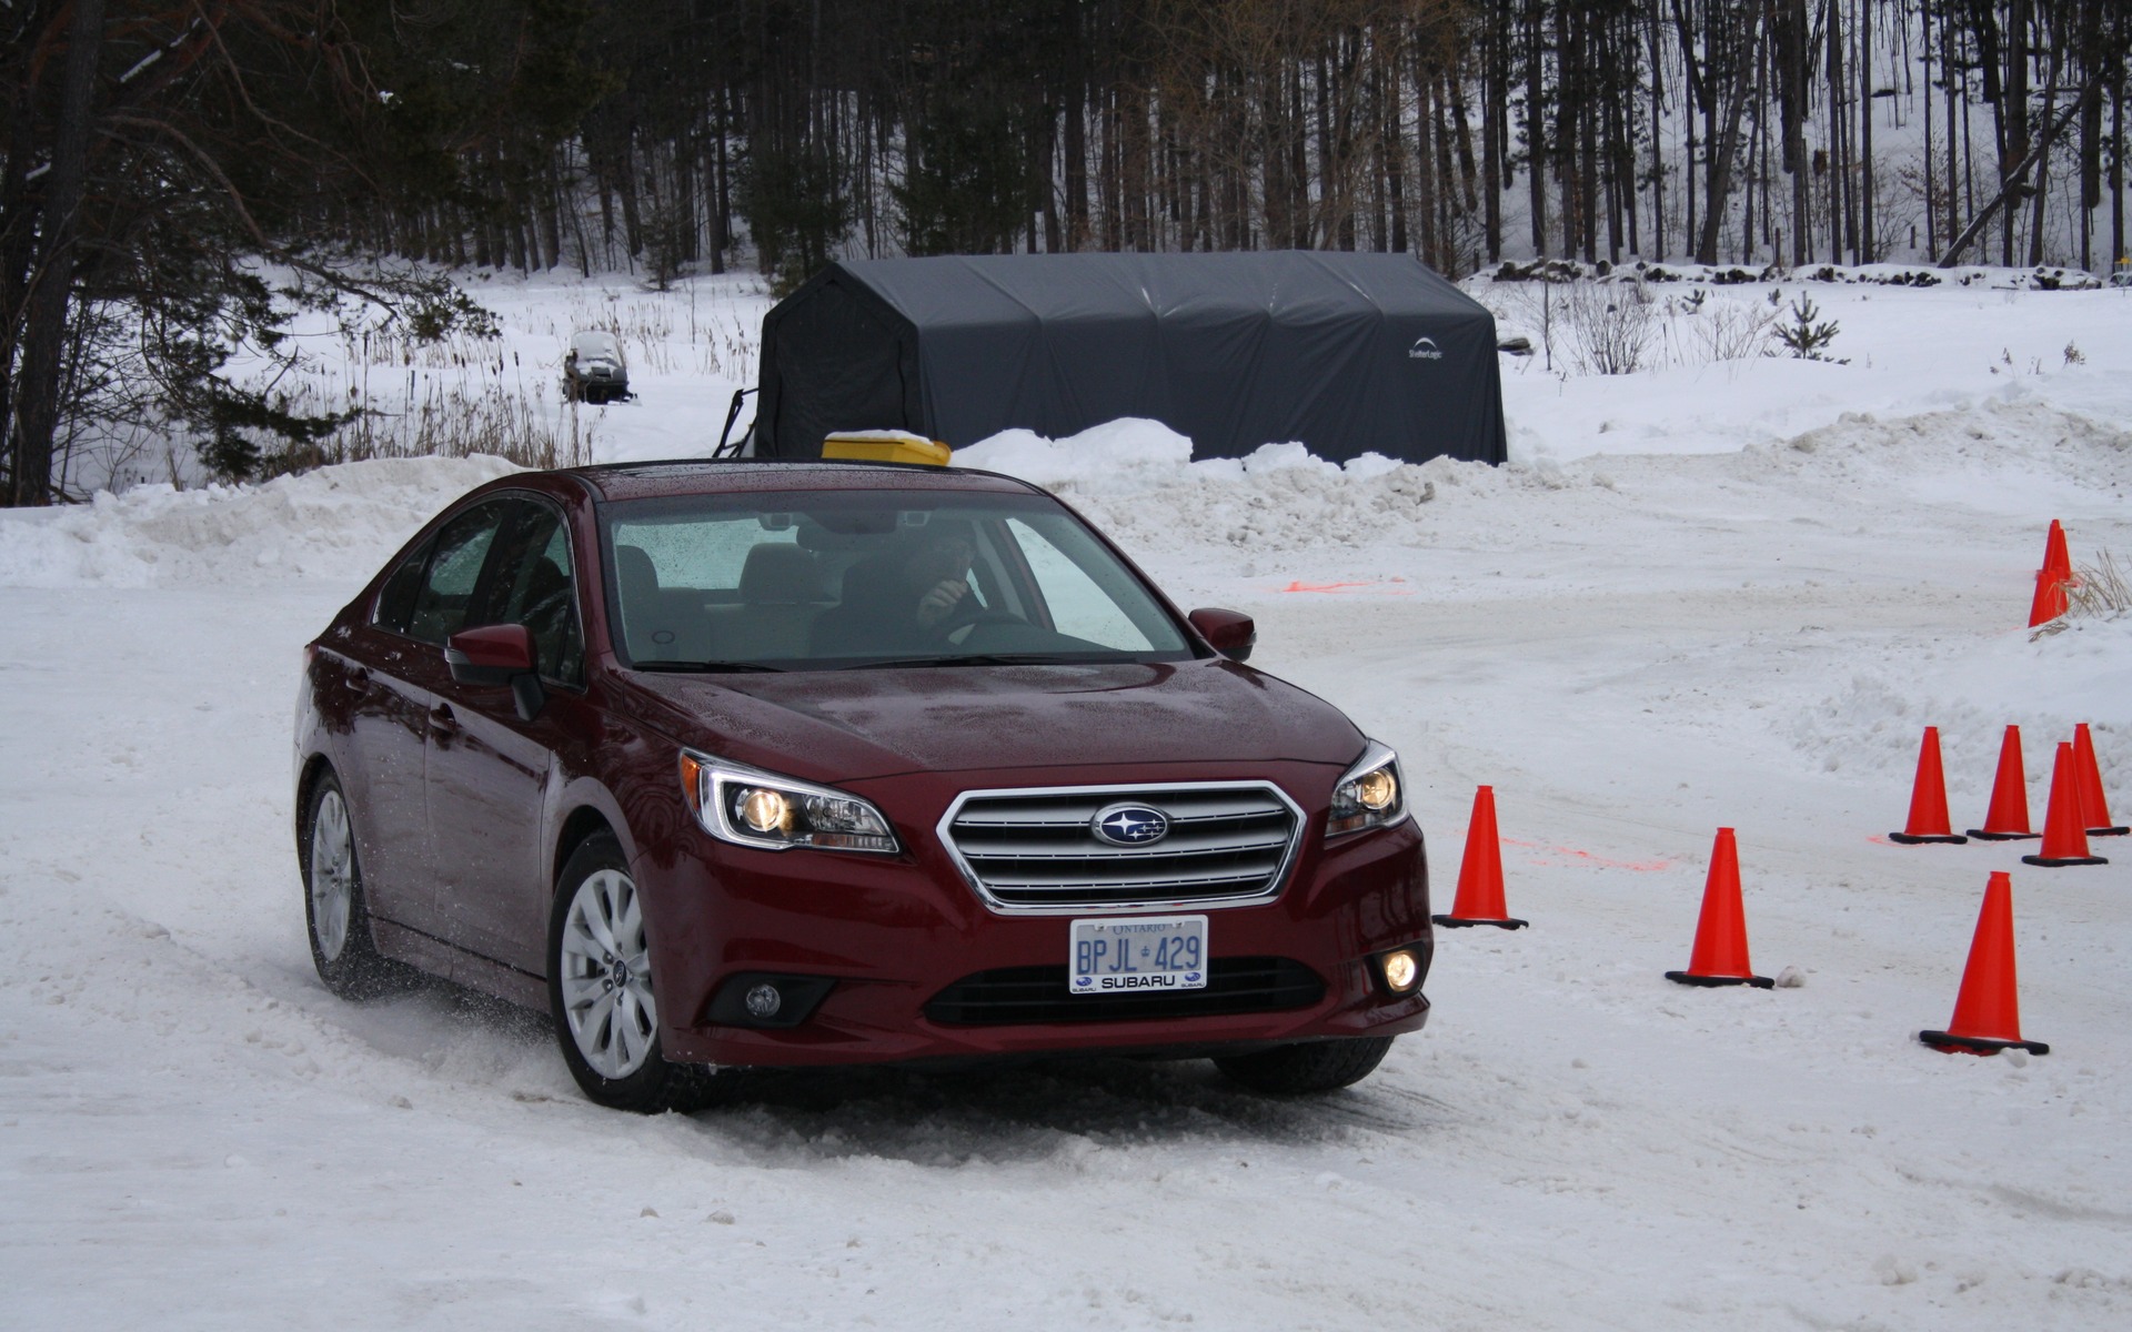
<svg viewBox="0 0 2132 1332">
<path fill-rule="evenodd" d="M 45 185 L 45 243 L 30 266 L 28 309 L 21 330 L 21 373 L 15 379 L 11 435 L 11 503 L 51 503 L 51 445 L 60 424 L 60 356 L 66 347 L 66 305 L 75 290 L 75 239 L 83 183 L 90 170 L 90 115 L 96 100 L 96 60 L 104 45 L 104 0 L 75 0 L 66 68 L 60 75 L 60 128 L 51 145 L 51 183 Z"/>
</svg>

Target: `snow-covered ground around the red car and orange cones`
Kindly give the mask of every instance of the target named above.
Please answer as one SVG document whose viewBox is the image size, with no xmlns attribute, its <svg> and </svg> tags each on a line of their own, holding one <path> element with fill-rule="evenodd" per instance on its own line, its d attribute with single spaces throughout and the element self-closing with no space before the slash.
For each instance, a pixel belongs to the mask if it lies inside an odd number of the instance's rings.
<svg viewBox="0 0 2132 1332">
<path fill-rule="evenodd" d="M 537 1017 L 333 1000 L 298 650 L 499 465 L 0 516 L 0 1323 L 2132 1323 L 2132 846 L 1885 840 L 1925 725 L 1961 827 L 2006 722 L 2038 821 L 2081 720 L 2132 814 L 2132 618 L 2023 631 L 2051 518 L 2077 561 L 2132 552 L 2132 296 L 1812 294 L 1851 364 L 1505 362 L 1503 469 L 1194 465 L 1132 424 L 964 454 L 1258 616 L 1256 665 L 1394 744 L 1445 906 L 1495 786 L 1533 927 L 1441 933 L 1431 1027 L 1318 1102 L 1094 1061 L 644 1121 L 584 1104 Z M 531 339 L 597 292 L 503 296 Z M 701 452 L 727 371 L 642 364 L 601 456 Z M 1757 970 L 1797 987 L 1661 978 L 1721 825 Z M 1915 1040 L 1991 870 L 2047 1057 Z"/>
</svg>

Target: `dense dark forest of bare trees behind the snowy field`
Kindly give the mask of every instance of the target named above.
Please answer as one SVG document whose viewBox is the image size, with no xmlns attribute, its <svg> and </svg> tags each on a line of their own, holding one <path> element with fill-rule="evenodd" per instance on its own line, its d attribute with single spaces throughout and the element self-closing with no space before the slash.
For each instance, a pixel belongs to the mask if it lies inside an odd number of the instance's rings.
<svg viewBox="0 0 2132 1332">
<path fill-rule="evenodd" d="M 437 269 L 1341 247 L 2126 264 L 2126 0 L 0 0 L 0 499 Z M 260 260 L 281 283 L 260 277 Z M 132 409 L 132 407 L 128 407 Z"/>
</svg>

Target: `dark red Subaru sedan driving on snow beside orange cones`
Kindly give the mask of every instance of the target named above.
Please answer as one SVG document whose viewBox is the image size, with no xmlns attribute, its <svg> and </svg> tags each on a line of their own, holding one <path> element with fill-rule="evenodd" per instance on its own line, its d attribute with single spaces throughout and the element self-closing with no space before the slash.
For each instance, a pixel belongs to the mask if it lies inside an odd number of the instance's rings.
<svg viewBox="0 0 2132 1332">
<path fill-rule="evenodd" d="M 313 961 L 546 1008 L 629 1110 L 1064 1051 L 1345 1087 L 1428 1017 L 1422 833 L 1251 639 L 981 471 L 492 482 L 309 648 Z"/>
</svg>

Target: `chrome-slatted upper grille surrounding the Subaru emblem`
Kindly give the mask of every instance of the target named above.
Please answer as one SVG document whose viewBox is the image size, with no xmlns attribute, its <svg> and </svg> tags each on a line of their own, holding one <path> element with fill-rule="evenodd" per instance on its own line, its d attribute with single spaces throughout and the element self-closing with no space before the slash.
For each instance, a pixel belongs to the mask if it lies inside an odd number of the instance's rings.
<svg viewBox="0 0 2132 1332">
<path fill-rule="evenodd" d="M 1168 835 L 1104 842 L 1094 821 L 1117 803 L 1160 810 Z M 1301 833 L 1303 812 L 1269 782 L 972 791 L 940 821 L 970 887 L 1030 914 L 1262 901 L 1281 891 Z"/>
</svg>

